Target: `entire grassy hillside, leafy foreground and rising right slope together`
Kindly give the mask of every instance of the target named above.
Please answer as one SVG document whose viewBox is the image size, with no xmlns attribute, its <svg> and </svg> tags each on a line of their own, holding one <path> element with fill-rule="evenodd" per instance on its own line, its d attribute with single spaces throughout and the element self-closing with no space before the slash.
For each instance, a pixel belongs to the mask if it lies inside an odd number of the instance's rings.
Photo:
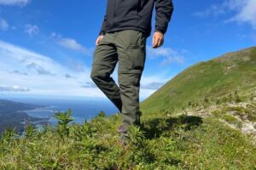
<svg viewBox="0 0 256 170">
<path fill-rule="evenodd" d="M 0 169 L 256 169 L 255 58 L 256 48 L 226 54 L 167 82 L 143 102 L 126 148 L 117 114 L 76 124 L 67 111 L 55 127 L 6 130 Z"/>
</svg>

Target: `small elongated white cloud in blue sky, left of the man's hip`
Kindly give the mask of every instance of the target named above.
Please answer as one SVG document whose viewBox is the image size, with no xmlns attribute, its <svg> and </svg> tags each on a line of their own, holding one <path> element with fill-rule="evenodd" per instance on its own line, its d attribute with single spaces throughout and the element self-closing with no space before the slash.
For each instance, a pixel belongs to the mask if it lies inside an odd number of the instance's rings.
<svg viewBox="0 0 256 170">
<path fill-rule="evenodd" d="M 50 37 L 55 39 L 55 42 L 64 48 L 69 48 L 74 51 L 79 51 L 87 55 L 91 55 L 93 52 L 92 48 L 85 48 L 83 45 L 81 45 L 79 42 L 77 42 L 75 39 L 70 37 L 62 37 L 61 35 L 56 34 L 55 32 L 52 32 Z"/>
</svg>

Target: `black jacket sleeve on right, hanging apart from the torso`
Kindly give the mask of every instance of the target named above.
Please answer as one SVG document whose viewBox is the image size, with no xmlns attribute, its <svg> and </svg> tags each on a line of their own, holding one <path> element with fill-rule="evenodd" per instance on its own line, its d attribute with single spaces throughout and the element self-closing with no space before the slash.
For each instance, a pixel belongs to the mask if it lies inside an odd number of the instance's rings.
<svg viewBox="0 0 256 170">
<path fill-rule="evenodd" d="M 172 17 L 172 0 L 155 0 L 155 11 L 155 31 L 165 34 Z"/>
</svg>

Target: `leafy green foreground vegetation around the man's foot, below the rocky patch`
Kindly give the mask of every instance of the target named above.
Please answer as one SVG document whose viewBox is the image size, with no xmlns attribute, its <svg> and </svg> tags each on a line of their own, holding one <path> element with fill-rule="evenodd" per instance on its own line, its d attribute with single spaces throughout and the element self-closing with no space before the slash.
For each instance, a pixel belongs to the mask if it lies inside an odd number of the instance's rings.
<svg viewBox="0 0 256 170">
<path fill-rule="evenodd" d="M 101 113 L 82 125 L 63 123 L 70 120 L 67 114 L 58 118 L 56 127 L 26 127 L 20 139 L 13 131 L 5 132 L 0 169 L 256 168 L 252 139 L 217 118 L 145 115 L 140 129 L 130 128 L 127 150 L 118 142 L 118 115 Z"/>
</svg>

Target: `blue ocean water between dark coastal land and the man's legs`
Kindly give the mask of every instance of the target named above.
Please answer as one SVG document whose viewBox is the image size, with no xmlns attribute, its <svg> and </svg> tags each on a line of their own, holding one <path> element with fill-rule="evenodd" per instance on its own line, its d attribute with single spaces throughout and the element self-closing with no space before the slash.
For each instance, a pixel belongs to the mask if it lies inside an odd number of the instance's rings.
<svg viewBox="0 0 256 170">
<path fill-rule="evenodd" d="M 117 114 L 118 109 L 108 99 L 31 99 L 31 98 L 8 98 L 9 100 L 34 104 L 44 105 L 44 107 L 25 111 L 29 116 L 38 118 L 48 118 L 48 122 L 55 124 L 54 117 L 57 111 L 73 111 L 73 122 L 82 123 L 85 120 L 97 116 L 100 111 L 104 111 L 106 115 L 110 116 Z"/>
</svg>

